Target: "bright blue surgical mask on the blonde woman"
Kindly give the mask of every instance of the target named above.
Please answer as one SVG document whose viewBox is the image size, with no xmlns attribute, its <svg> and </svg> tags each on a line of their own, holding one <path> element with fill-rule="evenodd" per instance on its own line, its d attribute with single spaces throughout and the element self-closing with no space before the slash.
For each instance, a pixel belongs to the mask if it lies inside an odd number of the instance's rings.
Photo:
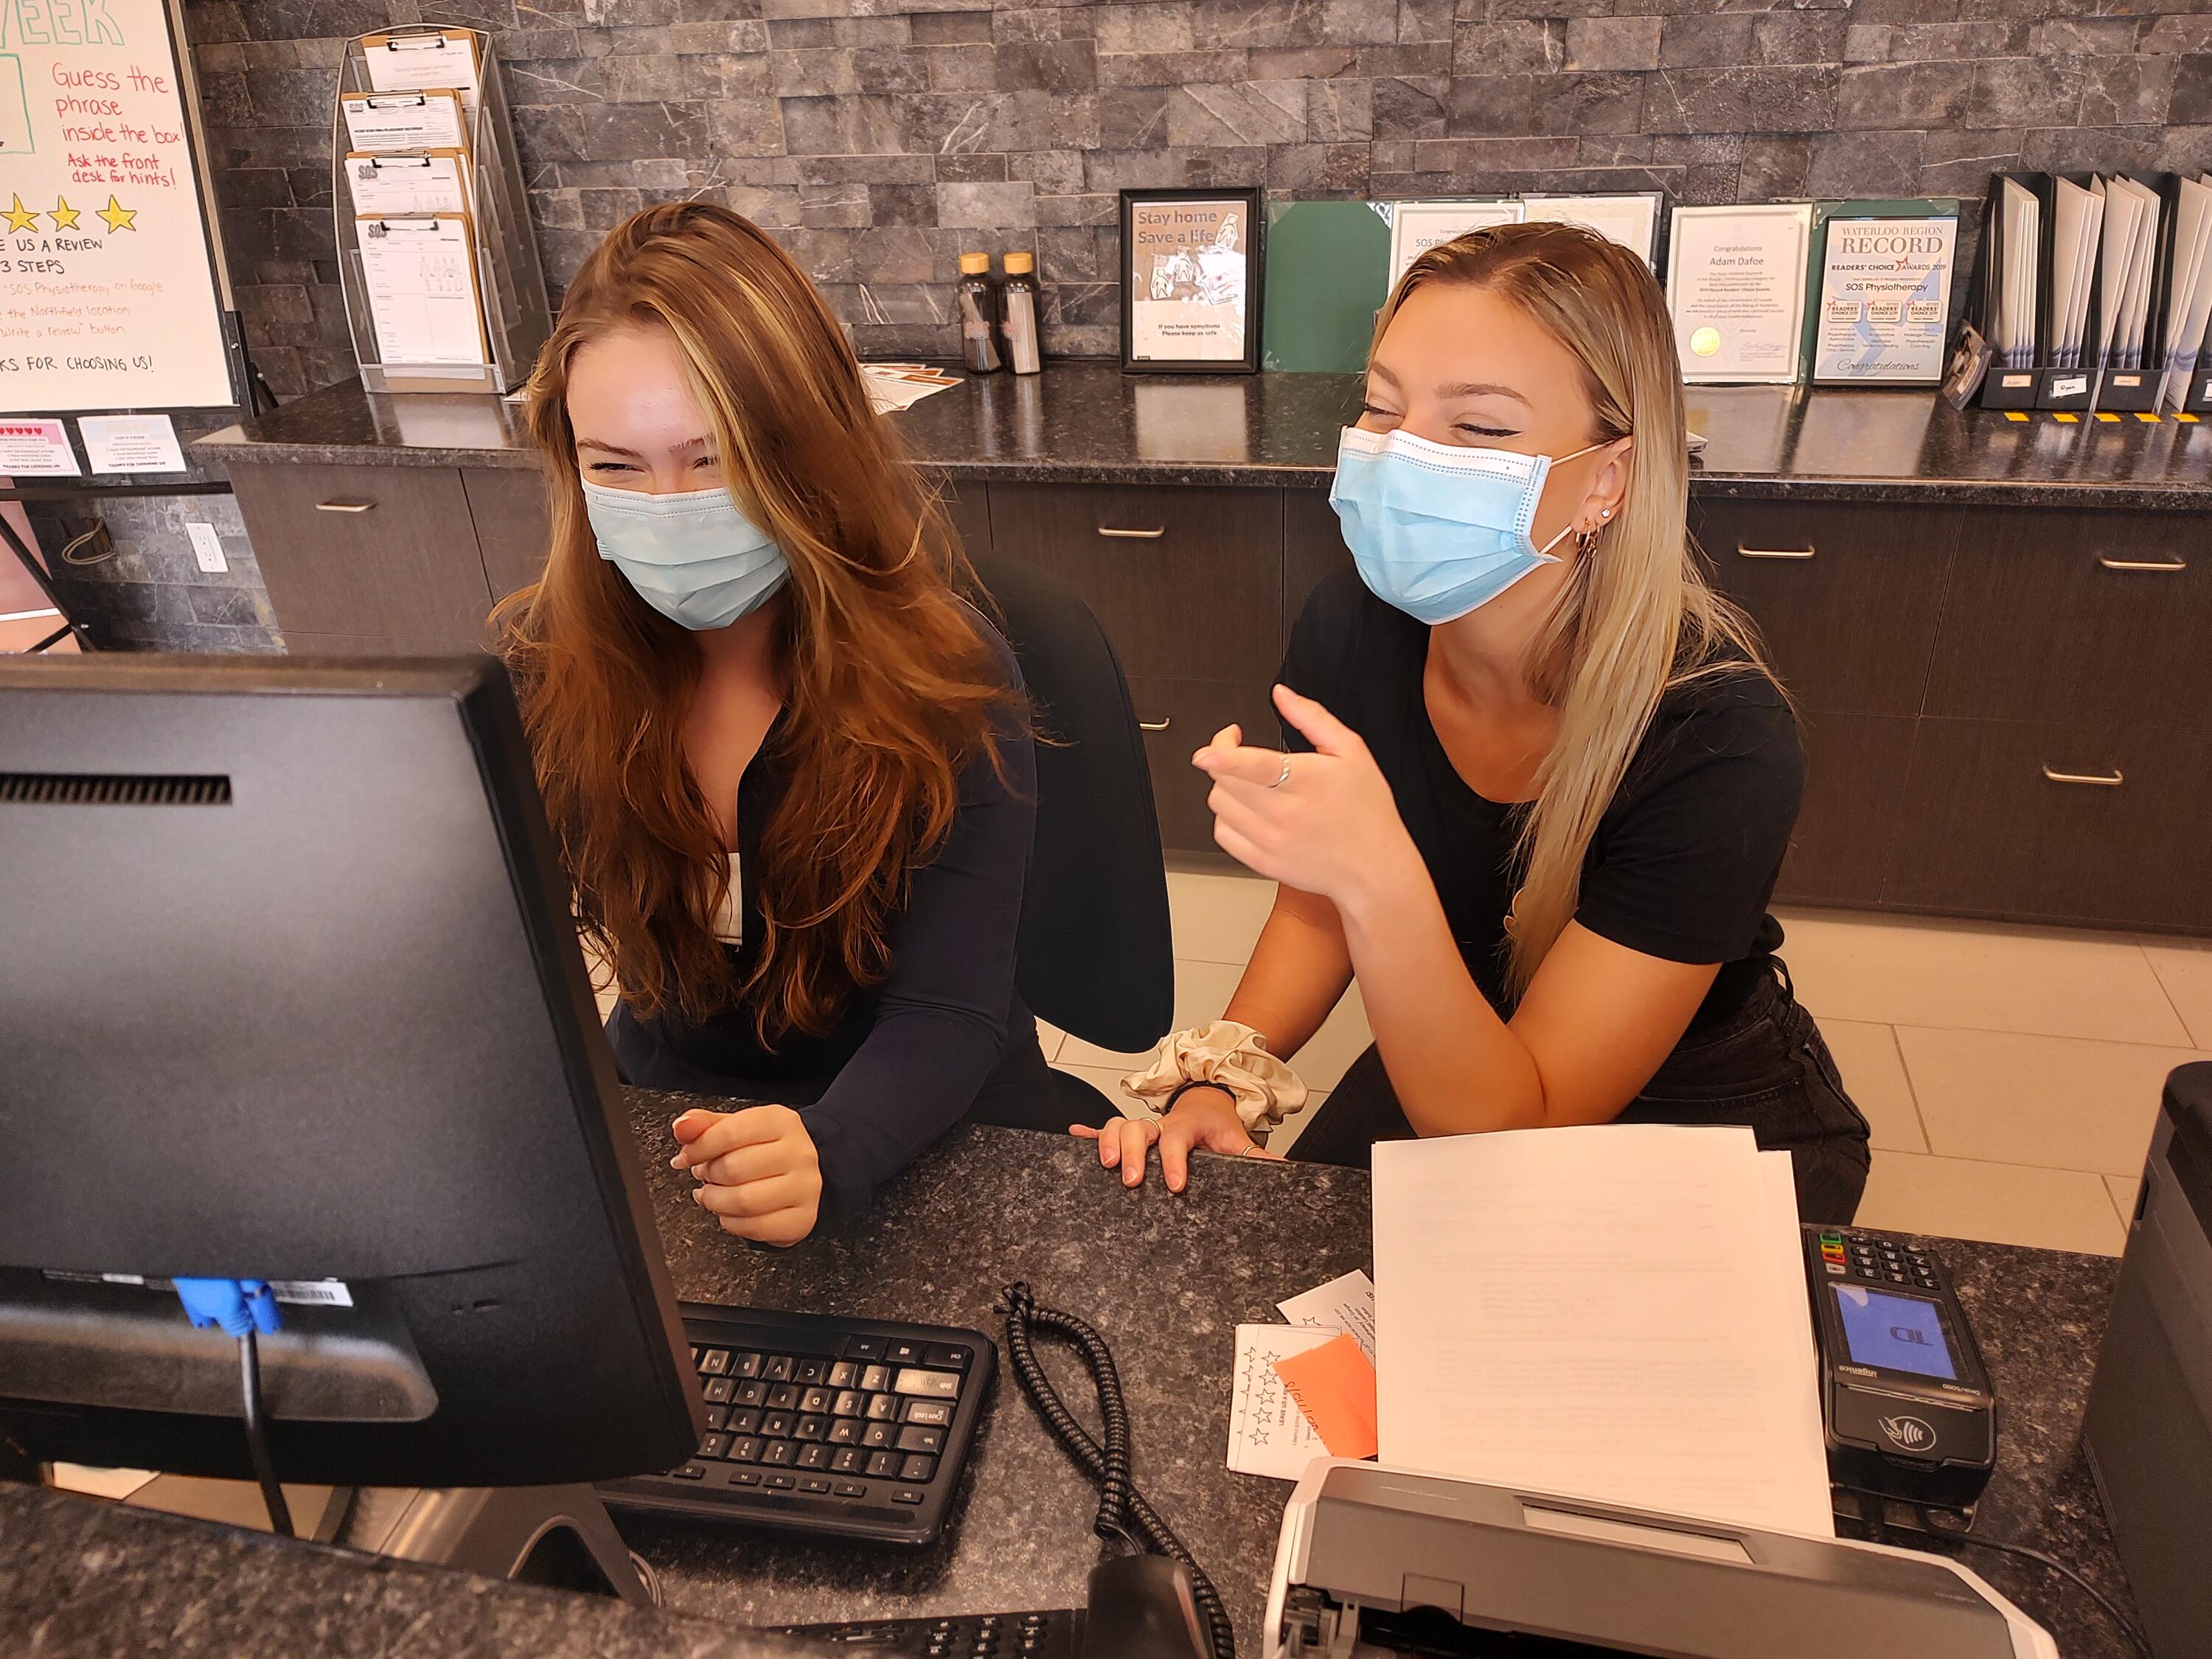
<svg viewBox="0 0 2212 1659">
<path fill-rule="evenodd" d="M 1604 442 L 1559 460 L 1593 449 Z M 1345 524 L 1360 580 L 1378 599 L 1433 628 L 1559 562 L 1551 549 L 1573 524 L 1544 546 L 1528 535 L 1551 467 L 1548 456 L 1345 427 L 1329 507 Z"/>
</svg>

